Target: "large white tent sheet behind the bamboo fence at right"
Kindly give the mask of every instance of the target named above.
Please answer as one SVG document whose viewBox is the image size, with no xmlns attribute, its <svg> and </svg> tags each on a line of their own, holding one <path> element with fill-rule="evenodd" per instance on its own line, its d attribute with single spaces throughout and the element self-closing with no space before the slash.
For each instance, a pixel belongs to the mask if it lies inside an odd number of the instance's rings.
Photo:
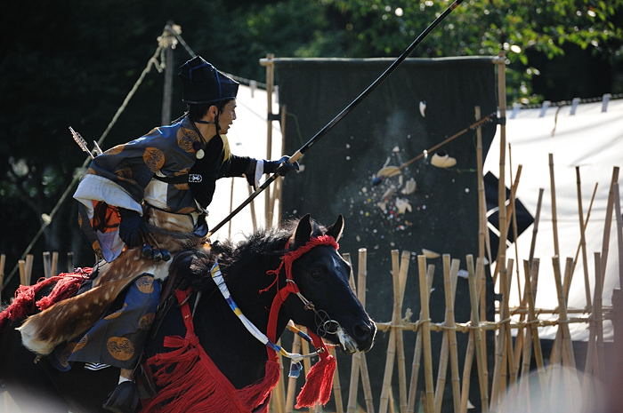
<svg viewBox="0 0 623 413">
<path fill-rule="evenodd" d="M 520 110 L 506 123 L 506 140 L 511 146 L 514 174 L 517 165 L 522 164 L 522 175 L 517 189 L 517 198 L 534 216 L 538 203 L 538 188 L 544 188 L 535 257 L 540 258 L 538 296 L 536 306 L 554 309 L 558 306 L 552 257 L 554 256 L 554 230 L 552 224 L 551 192 L 549 183 L 548 154 L 554 156 L 555 202 L 557 209 L 560 261 L 564 270 L 565 259 L 574 258 L 580 240 L 577 179 L 575 167 L 581 173 L 581 192 L 584 216 L 587 216 L 590 197 L 595 183 L 598 183 L 595 203 L 587 224 L 587 267 L 591 299 L 595 289 L 595 252 L 602 252 L 606 205 L 613 167 L 623 166 L 623 100 L 612 100 L 607 111 L 602 111 L 602 102 L 580 104 L 575 115 L 571 107 L 550 107 L 543 114 L 542 109 Z M 506 155 L 508 163 L 508 152 Z M 491 171 L 499 176 L 499 127 L 489 154 L 485 173 Z M 506 187 L 511 187 L 509 169 L 506 169 Z M 532 226 L 517 240 L 520 261 L 529 257 Z M 514 246 L 506 253 L 515 258 Z M 516 265 L 516 263 L 515 263 Z M 522 268 L 522 266 L 520 267 Z M 516 274 L 510 305 L 519 305 Z M 521 279 L 523 281 L 523 272 Z M 613 213 L 609 255 L 603 283 L 603 306 L 611 306 L 612 290 L 619 285 L 619 242 L 616 227 L 616 213 Z M 582 254 L 578 256 L 570 285 L 568 305 L 582 309 L 586 306 L 585 275 Z M 586 315 L 586 314 L 585 314 Z M 587 324 L 571 323 L 574 340 L 587 340 Z M 553 338 L 555 327 L 543 329 L 541 338 Z M 604 336 L 612 338 L 611 323 L 604 325 Z"/>
</svg>

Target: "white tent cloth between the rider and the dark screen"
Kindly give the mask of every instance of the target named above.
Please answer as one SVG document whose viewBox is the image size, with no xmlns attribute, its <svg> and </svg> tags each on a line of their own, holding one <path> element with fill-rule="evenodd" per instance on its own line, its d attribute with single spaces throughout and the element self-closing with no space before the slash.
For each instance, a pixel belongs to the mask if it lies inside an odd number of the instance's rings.
<svg viewBox="0 0 623 413">
<path fill-rule="evenodd" d="M 267 98 L 266 91 L 251 88 L 240 84 L 236 99 L 237 119 L 231 126 L 227 137 L 230 141 L 231 152 L 235 155 L 251 156 L 257 159 L 266 159 L 266 115 Z M 279 107 L 276 101 L 276 93 L 273 93 L 272 107 Z M 272 123 L 271 159 L 279 159 L 281 156 L 281 130 L 279 122 Z M 264 176 L 265 177 L 265 176 Z M 275 184 L 271 185 L 274 190 Z M 214 199 L 208 207 L 208 225 L 212 228 L 223 218 L 229 215 L 231 209 L 235 209 L 245 201 L 249 195 L 247 179 L 232 178 L 219 179 L 216 181 Z M 231 193 L 233 190 L 233 197 Z M 255 221 L 257 227 L 264 227 L 264 195 L 258 195 L 253 201 L 255 209 Z M 212 241 L 231 238 L 239 241 L 244 234 L 253 232 L 253 219 L 251 217 L 251 205 L 247 205 L 238 215 L 219 229 L 213 236 Z M 230 226 L 231 225 L 231 226 Z"/>
</svg>

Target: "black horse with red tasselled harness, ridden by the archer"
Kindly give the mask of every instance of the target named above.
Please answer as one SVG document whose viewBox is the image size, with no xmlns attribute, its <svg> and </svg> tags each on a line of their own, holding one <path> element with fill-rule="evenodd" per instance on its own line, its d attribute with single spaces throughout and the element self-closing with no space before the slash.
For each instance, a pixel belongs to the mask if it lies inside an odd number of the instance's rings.
<svg viewBox="0 0 623 413">
<path fill-rule="evenodd" d="M 275 278 L 267 272 L 279 267 L 287 251 L 309 245 L 311 239 L 325 234 L 338 240 L 343 228 L 341 216 L 333 226 L 325 228 L 307 215 L 289 227 L 252 234 L 236 246 L 231 242 L 217 243 L 210 255 L 186 251 L 175 258 L 172 271 L 187 280 L 192 290 L 201 291 L 193 316 L 199 344 L 235 388 L 261 380 L 268 356 L 266 346 L 244 328 L 207 274 L 214 254 L 219 255 L 231 297 L 242 313 L 265 332 L 277 290 L 275 286 L 267 288 Z M 312 306 L 305 306 L 295 294 L 289 295 L 279 311 L 277 338 L 292 320 L 340 345 L 348 353 L 368 351 L 376 326 L 350 289 L 349 274 L 348 264 L 331 245 L 314 246 L 297 258 L 292 266 L 292 278 Z M 280 271 L 277 276 L 277 285 L 284 286 L 287 283 L 285 272 Z M 264 291 L 260 293 L 260 290 Z M 327 324 L 332 327 L 328 328 Z M 172 306 L 159 325 L 146 350 L 147 356 L 161 351 L 165 336 L 184 336 L 179 306 Z M 0 383 L 12 393 L 21 409 L 28 412 L 104 411 L 101 403 L 117 385 L 116 369 L 92 371 L 76 363 L 69 372 L 63 373 L 53 369 L 45 358 L 33 363 L 34 354 L 21 345 L 20 334 L 14 327 L 17 325 L 0 331 Z"/>
</svg>

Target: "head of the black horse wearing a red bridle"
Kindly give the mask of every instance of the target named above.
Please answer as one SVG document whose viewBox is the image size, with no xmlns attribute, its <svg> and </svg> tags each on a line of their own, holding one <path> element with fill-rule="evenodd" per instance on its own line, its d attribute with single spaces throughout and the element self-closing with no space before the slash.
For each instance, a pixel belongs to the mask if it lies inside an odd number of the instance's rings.
<svg viewBox="0 0 623 413">
<path fill-rule="evenodd" d="M 309 214 L 299 220 L 290 251 L 309 248 L 321 237 L 335 243 L 319 242 L 293 261 L 292 279 L 300 296 L 287 300 L 287 312 L 295 323 L 341 345 L 345 352 L 366 352 L 373 345 L 376 325 L 352 291 L 351 266 L 336 249 L 343 230 L 342 215 L 326 229 L 315 225 Z"/>
</svg>

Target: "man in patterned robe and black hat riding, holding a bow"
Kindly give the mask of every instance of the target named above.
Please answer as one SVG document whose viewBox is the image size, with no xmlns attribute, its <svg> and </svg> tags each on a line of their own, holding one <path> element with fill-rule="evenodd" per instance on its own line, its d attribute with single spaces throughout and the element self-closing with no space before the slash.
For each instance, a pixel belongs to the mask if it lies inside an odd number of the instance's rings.
<svg viewBox="0 0 623 413">
<path fill-rule="evenodd" d="M 103 258 L 92 289 L 20 328 L 23 344 L 35 353 L 69 342 L 69 361 L 121 369 L 104 405 L 111 411 L 135 409 L 133 369 L 158 307 L 159 280 L 168 274 L 171 254 L 207 247 L 215 180 L 245 176 L 256 186 L 263 173 L 298 169 L 287 156 L 266 161 L 231 154 L 226 133 L 236 119 L 239 83 L 201 57 L 184 63 L 179 75 L 188 105 L 182 118 L 95 157 L 74 194 L 79 224 Z M 121 310 L 99 320 L 124 290 Z"/>
</svg>

